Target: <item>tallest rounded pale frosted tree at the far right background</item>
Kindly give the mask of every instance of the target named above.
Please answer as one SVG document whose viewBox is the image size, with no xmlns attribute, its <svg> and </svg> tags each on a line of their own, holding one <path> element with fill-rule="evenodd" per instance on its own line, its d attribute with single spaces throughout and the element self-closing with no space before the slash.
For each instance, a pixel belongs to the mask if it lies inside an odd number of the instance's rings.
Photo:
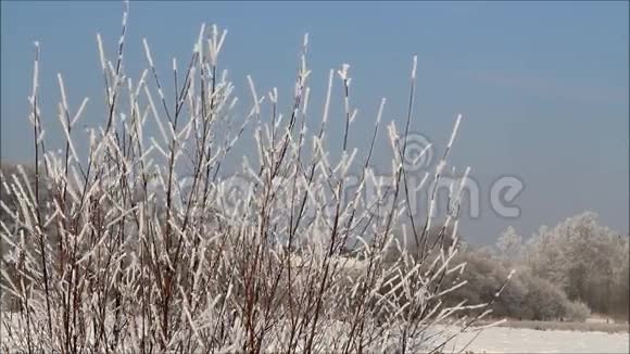
<svg viewBox="0 0 630 354">
<path fill-rule="evenodd" d="M 584 212 L 541 227 L 528 244 L 527 261 L 533 274 L 562 286 L 569 299 L 608 313 L 619 307 L 614 302 L 628 302 L 618 290 L 627 283 L 627 237 L 598 225 L 597 214 Z M 613 301 L 613 293 L 621 300 Z"/>
</svg>

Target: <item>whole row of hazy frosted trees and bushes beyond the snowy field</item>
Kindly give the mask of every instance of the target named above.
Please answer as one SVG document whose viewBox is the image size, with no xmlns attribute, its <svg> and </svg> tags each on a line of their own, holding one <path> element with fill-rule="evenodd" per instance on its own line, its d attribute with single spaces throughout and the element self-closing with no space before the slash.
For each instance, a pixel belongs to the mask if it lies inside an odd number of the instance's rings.
<svg viewBox="0 0 630 354">
<path fill-rule="evenodd" d="M 493 306 L 493 316 L 585 321 L 597 314 L 608 321 L 627 324 L 629 243 L 628 235 L 598 225 L 592 212 L 569 217 L 553 228 L 543 226 L 527 242 L 509 227 L 494 246 L 467 245 L 456 255 L 458 262 L 467 264 L 465 277 L 470 287 L 450 296 L 452 302 L 491 299 L 508 269 L 516 269 Z"/>
</svg>

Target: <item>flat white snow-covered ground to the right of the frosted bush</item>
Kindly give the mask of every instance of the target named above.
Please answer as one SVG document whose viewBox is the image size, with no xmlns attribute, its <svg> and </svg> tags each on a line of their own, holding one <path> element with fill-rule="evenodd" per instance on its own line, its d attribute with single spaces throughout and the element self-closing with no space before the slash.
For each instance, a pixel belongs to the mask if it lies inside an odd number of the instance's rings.
<svg viewBox="0 0 630 354">
<path fill-rule="evenodd" d="M 579 332 L 493 327 L 462 333 L 445 352 L 458 352 L 479 334 L 466 351 L 474 353 L 630 353 L 628 333 Z"/>
</svg>

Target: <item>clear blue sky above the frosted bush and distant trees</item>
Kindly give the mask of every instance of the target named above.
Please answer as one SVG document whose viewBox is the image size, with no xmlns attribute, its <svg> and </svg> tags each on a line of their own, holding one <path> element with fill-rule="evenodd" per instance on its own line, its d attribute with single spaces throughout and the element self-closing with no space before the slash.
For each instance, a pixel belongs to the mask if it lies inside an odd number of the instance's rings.
<svg viewBox="0 0 630 354">
<path fill-rule="evenodd" d="M 122 2 L 2 1 L 1 10 L 2 159 L 28 161 L 33 42 L 42 48 L 48 139 L 61 138 L 55 75 L 64 75 L 71 105 L 83 96 L 101 102 L 96 34 L 113 53 Z M 480 186 L 481 216 L 464 223 L 471 242 L 493 242 L 508 225 L 527 238 L 541 224 L 585 210 L 627 232 L 628 12 L 627 1 L 131 1 L 127 71 L 137 77 L 144 67 L 143 37 L 166 72 L 173 55 L 180 63 L 189 59 L 202 23 L 216 23 L 229 30 L 220 62 L 235 85 L 247 87 L 251 74 L 262 89 L 278 87 L 287 102 L 307 31 L 312 89 L 318 92 L 313 102 L 323 101 L 328 69 L 351 64 L 352 102 L 360 109 L 351 143 L 361 147 L 381 97 L 388 98 L 385 118 L 402 124 L 417 53 L 414 131 L 432 140 L 438 155 L 455 114 L 465 116 L 451 161 L 471 166 Z M 341 117 L 339 104 L 337 110 Z M 86 124 L 99 119 L 90 116 Z M 377 163 L 386 162 L 385 150 Z M 504 175 L 526 186 L 515 202 L 518 218 L 489 208 L 490 186 Z"/>
</svg>

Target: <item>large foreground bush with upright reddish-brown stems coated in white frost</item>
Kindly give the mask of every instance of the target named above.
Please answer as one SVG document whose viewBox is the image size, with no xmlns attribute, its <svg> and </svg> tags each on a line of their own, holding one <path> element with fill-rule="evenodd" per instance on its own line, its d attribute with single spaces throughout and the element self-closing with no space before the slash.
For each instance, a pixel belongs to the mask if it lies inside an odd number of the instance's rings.
<svg viewBox="0 0 630 354">
<path fill-rule="evenodd" d="M 51 117 L 40 111 L 36 43 L 34 160 L 3 166 L 1 175 L 3 352 L 439 352 L 488 317 L 511 274 L 493 275 L 501 286 L 492 296 L 449 301 L 468 287 L 456 246 L 458 214 L 434 216 L 431 199 L 426 215 L 414 215 L 405 198 L 408 189 L 432 188 L 410 186 L 402 163 L 415 58 L 404 126 L 383 123 L 383 99 L 371 146 L 360 157 L 348 143 L 356 116 L 349 65 L 328 73 L 323 114 L 310 114 L 317 102 L 308 102 L 307 37 L 289 108 L 278 103 L 278 90 L 261 92 L 248 77 L 252 104 L 239 121 L 240 101 L 219 64 L 226 30 L 202 25 L 184 71 L 175 60 L 171 72 L 155 67 L 144 40 L 147 68 L 133 78 L 125 72 L 127 20 L 128 4 L 112 60 L 97 37 L 103 102 L 86 98 L 70 106 L 72 90 L 58 75 L 61 150 L 50 148 L 43 130 Z M 332 94 L 342 96 L 340 113 L 331 110 Z M 81 131 L 88 105 L 102 108 L 103 121 Z M 328 122 L 339 117 L 344 138 L 329 147 Z M 461 118 L 424 180 L 431 186 Z M 248 127 L 254 161 L 231 154 L 249 138 Z M 381 186 L 369 166 L 383 132 L 395 184 L 368 200 L 365 185 Z M 236 201 L 234 179 L 222 169 L 235 160 L 251 181 Z M 358 188 L 343 195 L 354 170 Z M 454 210 L 461 190 L 451 188 Z M 414 248 L 403 246 L 398 232 Z M 349 248 L 361 262 L 342 256 Z M 444 324 L 459 330 L 446 334 Z"/>
</svg>

